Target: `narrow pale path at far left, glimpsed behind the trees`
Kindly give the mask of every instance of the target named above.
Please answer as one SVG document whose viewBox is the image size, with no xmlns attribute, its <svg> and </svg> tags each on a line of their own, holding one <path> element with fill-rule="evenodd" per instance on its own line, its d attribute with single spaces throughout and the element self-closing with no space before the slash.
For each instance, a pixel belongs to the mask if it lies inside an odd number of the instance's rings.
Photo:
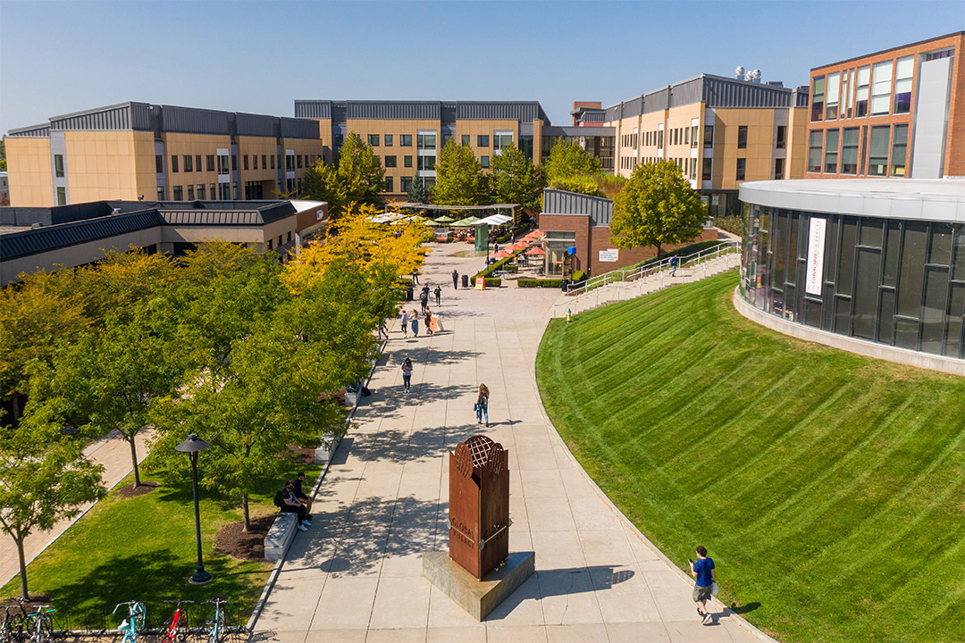
<svg viewBox="0 0 965 643">
<path fill-rule="evenodd" d="M 143 429 L 137 434 L 134 441 L 137 444 L 137 457 L 144 459 L 148 454 L 145 442 L 153 435 L 153 429 Z M 104 466 L 103 480 L 108 489 L 116 485 L 131 472 L 130 466 L 130 445 L 116 431 L 92 442 L 84 449 L 84 455 L 92 459 L 97 464 Z M 94 506 L 93 502 L 81 507 L 81 515 Z M 54 524 L 48 531 L 39 531 L 27 537 L 23 543 L 24 555 L 27 564 L 45 549 L 50 543 L 60 538 L 61 534 L 76 521 L 73 518 L 69 521 L 60 521 Z M 20 565 L 16 559 L 16 547 L 14 541 L 7 534 L 0 534 L 0 587 L 10 582 L 11 578 L 20 573 Z"/>
</svg>

